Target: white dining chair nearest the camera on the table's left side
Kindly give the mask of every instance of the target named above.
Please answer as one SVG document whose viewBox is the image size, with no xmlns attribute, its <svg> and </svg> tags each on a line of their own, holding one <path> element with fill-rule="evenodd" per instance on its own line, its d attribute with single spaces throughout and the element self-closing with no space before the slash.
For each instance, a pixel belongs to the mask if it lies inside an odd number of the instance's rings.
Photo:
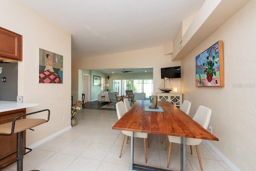
<svg viewBox="0 0 256 171">
<path fill-rule="evenodd" d="M 124 113 L 126 113 L 126 109 L 125 109 L 124 103 L 122 101 L 119 101 L 118 103 L 116 103 L 116 113 L 117 113 L 118 120 L 124 115 Z M 119 157 L 121 157 L 121 154 L 122 154 L 125 135 L 131 136 L 131 131 L 122 131 L 122 133 L 124 135 L 123 135 L 123 139 L 122 139 L 122 145 L 121 145 L 121 150 L 120 150 Z M 148 161 L 147 161 L 147 150 L 146 150 L 146 138 L 148 138 L 148 133 L 134 132 L 134 137 L 138 137 L 138 138 L 143 138 L 144 139 L 145 162 L 147 163 Z"/>
</svg>

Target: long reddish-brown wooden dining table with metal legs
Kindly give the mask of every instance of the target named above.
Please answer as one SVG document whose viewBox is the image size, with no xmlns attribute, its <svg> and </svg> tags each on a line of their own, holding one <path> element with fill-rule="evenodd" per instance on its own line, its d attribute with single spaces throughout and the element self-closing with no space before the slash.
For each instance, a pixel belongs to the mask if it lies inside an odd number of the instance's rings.
<svg viewBox="0 0 256 171">
<path fill-rule="evenodd" d="M 218 141 L 218 138 L 208 132 L 190 116 L 167 101 L 158 101 L 157 106 L 162 111 L 148 109 L 150 101 L 137 100 L 112 127 L 112 129 L 131 131 L 131 170 L 165 171 L 166 169 L 148 167 L 134 163 L 134 132 L 172 135 L 180 137 L 180 166 L 185 171 L 186 137 Z M 145 110 L 146 109 L 146 110 Z M 149 111 L 148 111 L 149 110 Z M 167 160 L 167 159 L 166 159 Z"/>
</svg>

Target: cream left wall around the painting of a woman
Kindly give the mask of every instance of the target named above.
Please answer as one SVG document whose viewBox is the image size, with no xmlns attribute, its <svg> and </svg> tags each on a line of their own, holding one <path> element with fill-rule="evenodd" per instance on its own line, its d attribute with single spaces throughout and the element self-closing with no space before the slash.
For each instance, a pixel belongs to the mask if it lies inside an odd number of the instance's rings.
<svg viewBox="0 0 256 171">
<path fill-rule="evenodd" d="M 23 61 L 18 62 L 18 95 L 25 103 L 38 103 L 27 113 L 50 109 L 50 121 L 26 131 L 26 144 L 41 139 L 70 126 L 71 95 L 71 35 L 54 23 L 24 6 L 18 0 L 1 0 L 1 27 L 21 34 L 23 37 Z M 42 48 L 63 55 L 63 84 L 39 84 L 38 49 Z M 62 118 L 66 116 L 67 121 Z"/>
</svg>

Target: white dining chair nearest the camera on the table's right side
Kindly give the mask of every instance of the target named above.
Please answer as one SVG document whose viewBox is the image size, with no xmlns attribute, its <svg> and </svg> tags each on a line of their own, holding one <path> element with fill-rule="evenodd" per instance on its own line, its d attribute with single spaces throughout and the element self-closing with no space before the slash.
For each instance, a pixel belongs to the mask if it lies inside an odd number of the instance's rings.
<svg viewBox="0 0 256 171">
<path fill-rule="evenodd" d="M 212 110 L 208 107 L 200 105 L 196 111 L 196 114 L 193 117 L 193 120 L 199 123 L 204 129 L 207 129 L 210 118 L 212 115 Z M 169 167 L 169 161 L 170 161 L 170 154 L 171 154 L 171 144 L 172 143 L 180 143 L 180 137 L 176 136 L 170 136 L 168 135 L 169 140 L 169 152 L 168 152 L 168 159 L 167 159 L 167 167 Z M 198 155 L 198 160 L 200 164 L 201 171 L 203 170 L 201 157 L 199 153 L 199 147 L 198 145 L 202 142 L 202 139 L 196 139 L 196 138 L 186 138 L 186 145 L 195 145 L 196 146 L 196 152 Z"/>
</svg>

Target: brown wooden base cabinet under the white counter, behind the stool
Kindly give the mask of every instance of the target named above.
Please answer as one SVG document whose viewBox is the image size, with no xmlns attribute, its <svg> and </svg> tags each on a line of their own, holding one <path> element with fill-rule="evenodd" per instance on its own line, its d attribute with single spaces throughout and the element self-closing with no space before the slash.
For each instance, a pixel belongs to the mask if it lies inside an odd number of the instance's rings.
<svg viewBox="0 0 256 171">
<path fill-rule="evenodd" d="M 16 116 L 26 114 L 26 108 L 0 112 L 0 124 L 13 121 Z M 23 119 L 23 118 L 22 118 Z M 24 147 L 26 147 L 26 131 L 24 131 Z M 0 135 L 0 159 L 17 151 L 17 134 L 10 136 Z M 25 152 L 25 151 L 24 151 Z M 0 165 L 6 164 L 16 158 L 16 153 L 3 159 Z M 4 169 L 0 167 L 0 170 Z"/>
</svg>

